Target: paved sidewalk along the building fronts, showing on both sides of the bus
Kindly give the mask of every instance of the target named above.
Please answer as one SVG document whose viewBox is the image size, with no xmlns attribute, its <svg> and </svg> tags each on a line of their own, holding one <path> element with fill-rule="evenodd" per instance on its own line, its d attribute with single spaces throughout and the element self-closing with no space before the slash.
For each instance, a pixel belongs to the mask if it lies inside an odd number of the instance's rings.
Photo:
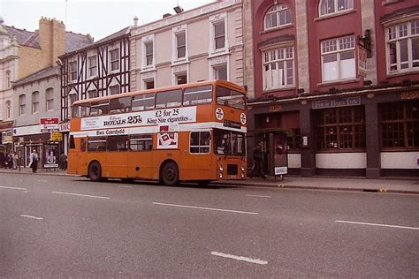
<svg viewBox="0 0 419 279">
<path fill-rule="evenodd" d="M 29 168 L 20 170 L 0 169 L 0 177 L 8 173 L 32 174 Z M 40 169 L 37 175 L 72 176 L 65 170 Z M 294 189 L 344 190 L 364 192 L 399 192 L 419 194 L 419 177 L 367 179 L 363 177 L 280 177 L 248 178 L 246 180 L 231 180 L 215 183 L 217 185 L 245 185 L 262 187 L 280 187 Z"/>
</svg>

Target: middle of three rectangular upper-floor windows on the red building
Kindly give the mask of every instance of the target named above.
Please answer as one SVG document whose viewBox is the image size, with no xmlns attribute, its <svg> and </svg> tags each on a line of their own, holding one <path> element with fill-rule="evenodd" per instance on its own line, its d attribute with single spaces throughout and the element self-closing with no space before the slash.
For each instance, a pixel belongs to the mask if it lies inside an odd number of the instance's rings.
<svg viewBox="0 0 419 279">
<path fill-rule="evenodd" d="M 324 82 L 354 79 L 354 36 L 322 41 L 322 77 Z"/>
</svg>

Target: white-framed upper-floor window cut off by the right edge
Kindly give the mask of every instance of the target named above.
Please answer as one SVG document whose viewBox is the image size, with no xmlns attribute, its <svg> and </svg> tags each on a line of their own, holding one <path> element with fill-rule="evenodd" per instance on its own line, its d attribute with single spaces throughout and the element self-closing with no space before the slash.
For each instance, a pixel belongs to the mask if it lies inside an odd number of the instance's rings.
<svg viewBox="0 0 419 279">
<path fill-rule="evenodd" d="M 419 70 L 419 20 L 385 29 L 389 72 Z"/>
</svg>

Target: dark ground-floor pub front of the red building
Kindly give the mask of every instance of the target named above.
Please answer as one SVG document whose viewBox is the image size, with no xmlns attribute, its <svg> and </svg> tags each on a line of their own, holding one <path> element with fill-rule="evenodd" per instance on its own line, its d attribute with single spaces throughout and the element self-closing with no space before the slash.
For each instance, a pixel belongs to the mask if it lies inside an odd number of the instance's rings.
<svg viewBox="0 0 419 279">
<path fill-rule="evenodd" d="M 249 132 L 266 142 L 267 170 L 278 131 L 286 134 L 289 173 L 419 177 L 419 89 L 310 94 L 250 102 L 249 107 Z M 255 141 L 248 140 L 249 151 Z"/>
</svg>

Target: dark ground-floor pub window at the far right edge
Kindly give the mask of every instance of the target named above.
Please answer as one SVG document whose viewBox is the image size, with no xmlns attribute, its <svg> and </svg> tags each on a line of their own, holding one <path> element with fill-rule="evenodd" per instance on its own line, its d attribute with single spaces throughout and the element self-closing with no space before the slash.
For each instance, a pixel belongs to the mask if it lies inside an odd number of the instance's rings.
<svg viewBox="0 0 419 279">
<path fill-rule="evenodd" d="M 419 147 L 419 102 L 385 103 L 380 107 L 383 148 Z"/>
</svg>

